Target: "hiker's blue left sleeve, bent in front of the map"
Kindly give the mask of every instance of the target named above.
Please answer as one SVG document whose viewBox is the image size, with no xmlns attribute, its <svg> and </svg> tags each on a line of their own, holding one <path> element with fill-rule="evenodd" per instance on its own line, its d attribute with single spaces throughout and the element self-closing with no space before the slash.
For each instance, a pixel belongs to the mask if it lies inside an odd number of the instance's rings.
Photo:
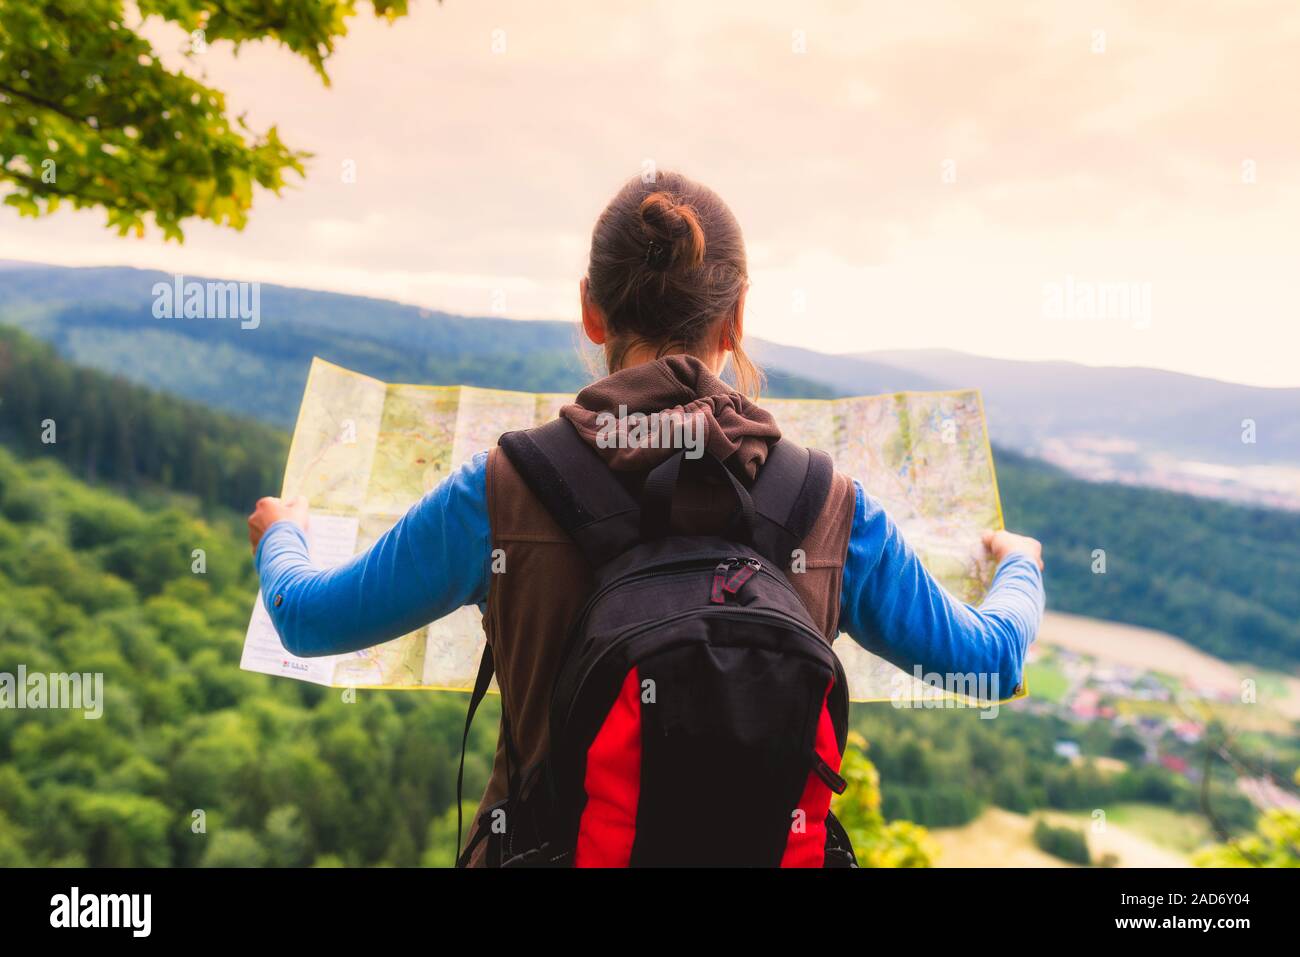
<svg viewBox="0 0 1300 957">
<path fill-rule="evenodd" d="M 317 568 L 302 529 L 277 521 L 255 555 L 263 601 L 290 654 L 356 651 L 488 599 L 488 452 L 425 495 L 368 550 Z"/>
</svg>

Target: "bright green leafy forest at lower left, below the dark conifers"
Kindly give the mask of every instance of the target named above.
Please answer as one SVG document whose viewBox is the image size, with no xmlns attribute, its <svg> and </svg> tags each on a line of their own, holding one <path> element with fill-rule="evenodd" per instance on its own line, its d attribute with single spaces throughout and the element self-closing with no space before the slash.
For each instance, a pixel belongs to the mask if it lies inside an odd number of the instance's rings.
<svg viewBox="0 0 1300 957">
<path fill-rule="evenodd" d="M 0 674 L 103 675 L 98 719 L 0 710 L 0 866 L 450 863 L 464 698 L 240 671 L 255 590 L 235 524 L 0 450 Z"/>
</svg>

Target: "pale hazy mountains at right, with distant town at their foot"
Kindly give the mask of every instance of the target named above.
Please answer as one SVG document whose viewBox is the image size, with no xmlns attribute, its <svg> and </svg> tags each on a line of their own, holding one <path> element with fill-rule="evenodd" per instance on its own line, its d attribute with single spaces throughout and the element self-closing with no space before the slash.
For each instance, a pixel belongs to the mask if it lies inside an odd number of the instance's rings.
<svg viewBox="0 0 1300 957">
<path fill-rule="evenodd" d="M 979 387 L 996 441 L 1075 475 L 1300 508 L 1300 389 L 949 350 L 861 359 Z"/>
</svg>

